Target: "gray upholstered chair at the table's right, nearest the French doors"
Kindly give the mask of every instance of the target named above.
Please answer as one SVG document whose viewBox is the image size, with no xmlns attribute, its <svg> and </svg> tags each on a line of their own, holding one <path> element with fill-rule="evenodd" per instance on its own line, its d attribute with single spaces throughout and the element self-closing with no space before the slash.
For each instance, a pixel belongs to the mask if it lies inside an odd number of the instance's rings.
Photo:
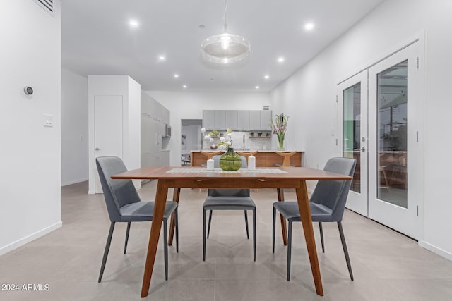
<svg viewBox="0 0 452 301">
<path fill-rule="evenodd" d="M 353 176 L 355 172 L 356 160 L 349 158 L 332 158 L 326 162 L 325 171 L 340 173 L 347 176 Z M 352 266 L 350 265 L 350 257 L 348 256 L 347 245 L 345 243 L 344 231 L 342 228 L 342 218 L 345 210 L 345 202 L 347 202 L 348 191 L 352 180 L 319 180 L 314 192 L 312 192 L 309 205 L 311 209 L 312 221 L 319 222 L 320 238 L 322 243 L 322 252 L 325 252 L 323 245 L 323 222 L 338 223 L 340 241 L 342 242 L 345 261 L 347 262 L 350 278 L 353 280 Z M 290 257 L 292 252 L 292 222 L 302 221 L 299 215 L 297 202 L 274 202 L 273 203 L 273 253 L 275 252 L 275 219 L 276 210 L 289 221 L 287 231 L 287 281 L 290 281 Z"/>
</svg>

